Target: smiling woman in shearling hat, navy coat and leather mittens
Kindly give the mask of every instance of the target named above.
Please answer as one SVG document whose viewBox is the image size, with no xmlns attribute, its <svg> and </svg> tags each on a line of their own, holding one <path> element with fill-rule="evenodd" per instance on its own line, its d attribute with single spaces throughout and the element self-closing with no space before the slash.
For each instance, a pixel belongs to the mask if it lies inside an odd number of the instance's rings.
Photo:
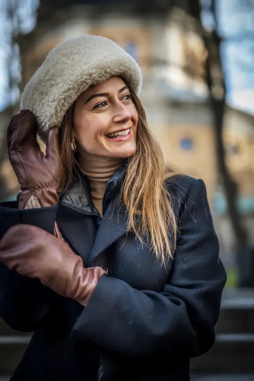
<svg viewBox="0 0 254 381">
<path fill-rule="evenodd" d="M 206 188 L 165 167 L 140 87 L 120 46 L 83 36 L 54 48 L 22 94 L 0 313 L 34 334 L 12 380 L 185 381 L 214 342 L 226 274 Z"/>
</svg>

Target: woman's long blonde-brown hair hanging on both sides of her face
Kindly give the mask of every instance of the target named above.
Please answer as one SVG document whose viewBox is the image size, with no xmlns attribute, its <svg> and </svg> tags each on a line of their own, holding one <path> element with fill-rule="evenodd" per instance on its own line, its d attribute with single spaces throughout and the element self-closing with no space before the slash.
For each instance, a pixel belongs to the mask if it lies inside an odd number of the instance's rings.
<svg viewBox="0 0 254 381">
<path fill-rule="evenodd" d="M 128 86 L 128 83 L 126 85 Z M 166 266 L 176 250 L 178 227 L 172 195 L 165 180 L 172 178 L 175 172 L 166 165 L 160 144 L 147 126 L 145 110 L 139 98 L 130 87 L 129 91 L 139 116 L 137 149 L 128 158 L 118 205 L 120 200 L 123 200 L 128 212 L 127 232 L 133 232 L 142 245 L 142 237 L 150 237 L 150 249 Z M 66 189 L 70 184 L 73 171 L 78 166 L 77 158 L 71 149 L 73 110 L 74 104 L 67 110 L 59 129 L 59 191 Z"/>
</svg>

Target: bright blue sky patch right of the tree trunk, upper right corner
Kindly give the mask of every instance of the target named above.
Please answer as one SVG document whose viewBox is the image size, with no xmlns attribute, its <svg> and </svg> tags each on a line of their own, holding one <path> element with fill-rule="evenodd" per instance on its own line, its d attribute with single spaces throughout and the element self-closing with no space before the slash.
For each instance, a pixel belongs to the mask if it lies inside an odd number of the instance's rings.
<svg viewBox="0 0 254 381">
<path fill-rule="evenodd" d="M 254 0 L 217 0 L 217 19 L 227 102 L 254 114 Z"/>
</svg>

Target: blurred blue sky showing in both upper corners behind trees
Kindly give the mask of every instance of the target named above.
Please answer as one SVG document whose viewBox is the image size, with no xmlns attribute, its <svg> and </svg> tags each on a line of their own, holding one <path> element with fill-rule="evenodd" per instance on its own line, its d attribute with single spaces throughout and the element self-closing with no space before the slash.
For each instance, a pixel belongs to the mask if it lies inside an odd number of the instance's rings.
<svg viewBox="0 0 254 381">
<path fill-rule="evenodd" d="M 8 67 L 14 80 L 20 78 L 18 48 L 10 65 L 11 24 L 6 14 L 7 3 L 19 3 L 19 28 L 28 33 L 36 24 L 35 11 L 39 0 L 0 0 L 0 111 L 19 97 L 18 88 L 8 90 Z M 201 0 L 202 21 L 207 27 L 213 20 L 210 0 Z M 222 64 L 227 88 L 227 102 L 232 107 L 254 114 L 254 0 L 216 0 L 218 32 L 223 37 Z M 17 25 L 16 25 L 17 26 Z M 15 26 L 14 26 L 15 27 Z M 16 57 L 16 58 L 15 58 Z"/>
</svg>

